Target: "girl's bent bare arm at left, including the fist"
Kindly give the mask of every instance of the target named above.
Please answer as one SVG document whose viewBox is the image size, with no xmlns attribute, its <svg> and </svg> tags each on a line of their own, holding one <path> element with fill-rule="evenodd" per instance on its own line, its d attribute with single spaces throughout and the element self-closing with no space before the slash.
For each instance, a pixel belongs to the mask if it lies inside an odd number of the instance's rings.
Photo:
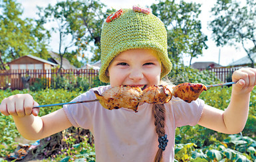
<svg viewBox="0 0 256 162">
<path fill-rule="evenodd" d="M 39 117 L 39 109 L 33 108 L 37 105 L 31 95 L 14 95 L 1 102 L 0 111 L 13 116 L 17 130 L 28 140 L 45 138 L 71 126 L 63 109 Z"/>
</svg>

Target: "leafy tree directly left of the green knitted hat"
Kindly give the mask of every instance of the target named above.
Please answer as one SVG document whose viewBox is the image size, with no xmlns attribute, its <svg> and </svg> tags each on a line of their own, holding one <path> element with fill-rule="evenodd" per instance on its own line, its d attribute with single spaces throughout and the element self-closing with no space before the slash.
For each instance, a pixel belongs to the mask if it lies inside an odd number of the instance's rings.
<svg viewBox="0 0 256 162">
<path fill-rule="evenodd" d="M 93 54 L 91 61 L 98 61 L 100 60 L 100 33 L 102 24 L 108 13 L 114 10 L 106 9 L 106 5 L 100 3 L 98 0 L 86 2 L 78 0 L 73 3 L 72 10 L 74 12 L 68 21 L 71 24 L 70 30 L 78 36 L 78 51 L 86 47 Z M 104 10 L 106 11 L 104 12 Z"/>
</svg>

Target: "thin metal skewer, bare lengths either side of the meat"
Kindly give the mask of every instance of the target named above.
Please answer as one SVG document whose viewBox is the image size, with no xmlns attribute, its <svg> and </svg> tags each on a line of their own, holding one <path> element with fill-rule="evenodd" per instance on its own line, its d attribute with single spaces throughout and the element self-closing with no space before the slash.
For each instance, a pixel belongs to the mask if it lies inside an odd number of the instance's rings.
<svg viewBox="0 0 256 162">
<path fill-rule="evenodd" d="M 215 84 L 215 85 L 206 85 L 206 87 L 207 87 L 207 89 L 209 89 L 210 87 L 217 87 L 217 86 L 222 86 L 222 85 L 233 85 L 235 83 L 236 82 L 219 83 L 219 84 Z M 61 106 L 64 104 L 79 104 L 79 103 L 84 103 L 84 102 L 95 102 L 95 101 L 98 101 L 98 100 L 94 99 L 94 100 L 88 100 L 88 101 L 64 102 L 64 103 L 58 103 L 58 104 L 44 104 L 44 105 L 35 106 L 33 108 L 48 107 L 48 106 Z"/>
</svg>

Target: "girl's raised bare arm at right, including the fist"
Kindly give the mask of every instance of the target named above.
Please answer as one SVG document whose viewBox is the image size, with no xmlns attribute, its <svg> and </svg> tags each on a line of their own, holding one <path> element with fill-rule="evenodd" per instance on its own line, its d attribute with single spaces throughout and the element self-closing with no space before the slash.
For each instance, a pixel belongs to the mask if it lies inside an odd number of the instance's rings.
<svg viewBox="0 0 256 162">
<path fill-rule="evenodd" d="M 243 130 L 248 116 L 250 93 L 256 84 L 256 69 L 241 68 L 232 75 L 237 81 L 232 87 L 231 101 L 223 110 L 205 105 L 199 125 L 222 132 L 237 134 Z"/>
</svg>

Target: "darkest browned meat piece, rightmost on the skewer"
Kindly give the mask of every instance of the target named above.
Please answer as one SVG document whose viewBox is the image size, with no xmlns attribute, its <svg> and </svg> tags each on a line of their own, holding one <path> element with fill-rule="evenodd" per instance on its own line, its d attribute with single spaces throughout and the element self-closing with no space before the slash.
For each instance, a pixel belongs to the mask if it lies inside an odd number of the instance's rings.
<svg viewBox="0 0 256 162">
<path fill-rule="evenodd" d="M 207 91 L 207 87 L 201 83 L 182 83 L 173 88 L 173 95 L 190 103 L 198 99 L 202 91 Z"/>
</svg>

